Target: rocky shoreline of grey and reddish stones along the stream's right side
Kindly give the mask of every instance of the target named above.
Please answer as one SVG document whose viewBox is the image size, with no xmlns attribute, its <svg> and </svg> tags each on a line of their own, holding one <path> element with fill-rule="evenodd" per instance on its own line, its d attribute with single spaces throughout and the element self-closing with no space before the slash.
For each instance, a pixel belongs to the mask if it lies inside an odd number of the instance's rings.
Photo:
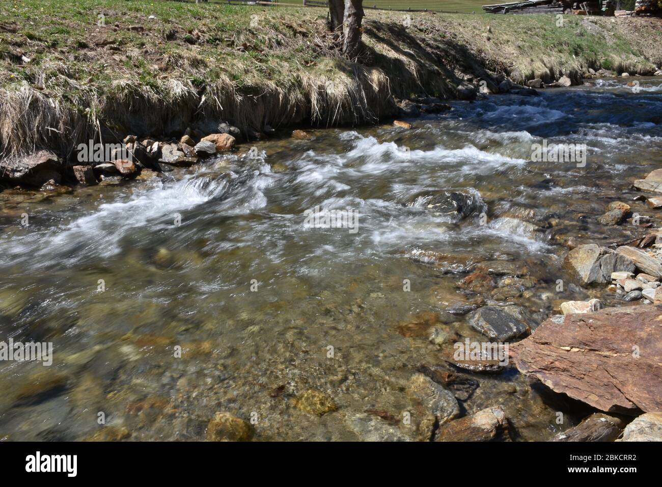
<svg viewBox="0 0 662 487">
<path fill-rule="evenodd" d="M 632 188 L 645 192 L 634 201 L 645 201 L 653 211 L 659 209 L 656 194 L 662 192 L 661 174 L 655 170 L 634 181 Z M 445 197 L 445 201 L 443 197 L 430 199 L 434 204 L 428 209 L 456 213 L 459 219 L 476 211 L 475 207 L 465 211 L 471 207 L 466 195 L 446 193 Z M 631 225 L 645 234 L 608 246 L 577 244 L 575 237 L 565 236 L 569 250 L 563 257 L 563 280 L 570 284 L 564 291 L 581 296 L 587 290 L 601 292 L 612 296 L 610 304 L 616 307 L 605 308 L 598 298 L 555 299 L 556 314 L 540 323 L 540 315 L 532 315 L 513 299 L 526 295 L 536 284 L 526 266 L 499 260 L 481 262 L 481 258 L 472 262 L 437 252 L 408 256 L 442 272 L 466 274 L 457 288 L 467 299 L 449 306 L 449 313 L 467 315 L 471 328 L 494 343 L 510 342 L 510 358 L 520 373 L 596 411 L 552 441 L 662 441 L 662 232 L 652 228 L 651 217 L 634 214 L 622 201 L 609 203 L 604 210 L 602 217 L 595 217 L 600 225 Z M 659 221 L 659 215 L 655 216 Z M 522 223 L 506 218 L 513 228 Z M 557 280 L 557 291 L 563 290 L 563 280 Z M 486 294 L 490 297 L 484 299 Z M 465 361 L 449 356 L 457 336 L 436 327 L 439 320 L 421 315 L 399 326 L 404 336 L 423 337 L 429 331 L 430 341 L 446 350 L 447 365 L 422 369 L 433 382 L 452 391 L 453 368 L 477 375 L 506 370 L 492 356 Z M 432 384 L 429 387 L 434 389 Z M 469 386 L 469 394 L 476 387 L 477 383 Z M 508 418 L 497 405 L 461 419 L 453 419 L 456 416 L 448 411 L 448 417 L 437 415 L 436 441 L 511 439 Z"/>
</svg>

